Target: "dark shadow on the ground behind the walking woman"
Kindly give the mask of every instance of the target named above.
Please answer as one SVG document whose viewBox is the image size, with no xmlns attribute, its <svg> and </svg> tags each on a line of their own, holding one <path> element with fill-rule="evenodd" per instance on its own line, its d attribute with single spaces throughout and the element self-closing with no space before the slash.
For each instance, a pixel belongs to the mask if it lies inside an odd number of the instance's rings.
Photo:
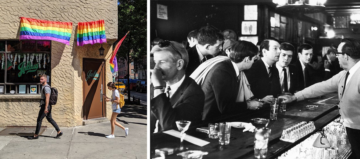
<svg viewBox="0 0 360 159">
<path fill-rule="evenodd" d="M 147 119 L 147 107 L 139 105 L 125 105 L 117 117 Z"/>
</svg>

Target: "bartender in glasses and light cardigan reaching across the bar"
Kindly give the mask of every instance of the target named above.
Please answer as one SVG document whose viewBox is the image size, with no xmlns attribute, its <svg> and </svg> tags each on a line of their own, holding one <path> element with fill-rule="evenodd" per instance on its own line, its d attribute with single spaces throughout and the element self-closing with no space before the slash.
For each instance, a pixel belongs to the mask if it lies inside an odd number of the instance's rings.
<svg viewBox="0 0 360 159">
<path fill-rule="evenodd" d="M 339 64 L 344 70 L 320 83 L 316 83 L 296 92 L 292 96 L 280 96 L 283 103 L 294 100 L 338 92 L 339 113 L 343 120 L 351 145 L 351 159 L 360 158 L 360 41 L 354 38 L 343 38 L 335 51 Z"/>
</svg>

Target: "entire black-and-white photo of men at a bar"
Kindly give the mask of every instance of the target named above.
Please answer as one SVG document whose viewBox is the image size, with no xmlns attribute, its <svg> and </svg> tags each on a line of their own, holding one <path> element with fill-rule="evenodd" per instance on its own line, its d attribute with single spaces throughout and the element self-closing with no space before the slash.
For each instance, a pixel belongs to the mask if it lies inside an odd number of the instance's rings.
<svg viewBox="0 0 360 159">
<path fill-rule="evenodd" d="M 360 1 L 148 3 L 150 158 L 360 159 Z"/>
</svg>

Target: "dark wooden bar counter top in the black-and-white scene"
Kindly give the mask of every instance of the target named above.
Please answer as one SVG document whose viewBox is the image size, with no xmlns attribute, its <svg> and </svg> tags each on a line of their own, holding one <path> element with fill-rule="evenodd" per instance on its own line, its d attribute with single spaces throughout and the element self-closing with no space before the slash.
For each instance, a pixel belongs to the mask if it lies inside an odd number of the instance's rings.
<svg viewBox="0 0 360 159">
<path fill-rule="evenodd" d="M 267 158 L 273 159 L 292 147 L 305 140 L 307 137 L 315 133 L 317 130 L 323 128 L 328 123 L 334 121 L 339 117 L 338 111 L 338 96 L 337 93 L 328 94 L 325 96 L 306 99 L 300 102 L 293 102 L 287 104 L 286 112 L 279 113 L 277 120 L 271 121 L 269 127 L 271 129 L 271 136 L 269 138 L 269 146 L 267 151 Z M 306 105 L 319 105 L 316 110 L 306 109 Z M 212 121 L 203 121 L 202 124 L 190 126 L 185 133 L 187 135 L 200 138 L 210 142 L 203 147 L 194 145 L 184 140 L 184 147 L 188 150 L 201 150 L 208 152 L 203 156 L 203 159 L 254 159 L 254 135 L 255 133 L 246 131 L 244 128 L 231 128 L 230 144 L 219 145 L 218 139 L 208 138 L 208 135 L 201 132 L 194 131 L 198 127 L 207 127 L 208 123 L 219 122 L 246 122 L 252 123 L 256 127 L 263 127 L 264 124 L 255 124 L 251 121 L 252 118 L 270 118 L 270 106 L 264 105 L 258 110 L 248 110 L 248 113 L 242 115 L 234 115 L 231 117 L 221 117 Z M 313 121 L 316 130 L 310 134 L 302 137 L 294 143 L 281 141 L 279 138 L 283 130 L 300 122 Z M 150 155 L 151 158 L 156 158 L 155 149 L 161 148 L 176 148 L 180 146 L 180 138 L 174 137 L 163 132 L 152 133 L 150 135 Z M 166 156 L 166 159 L 181 159 L 181 156 L 176 154 Z"/>
</svg>

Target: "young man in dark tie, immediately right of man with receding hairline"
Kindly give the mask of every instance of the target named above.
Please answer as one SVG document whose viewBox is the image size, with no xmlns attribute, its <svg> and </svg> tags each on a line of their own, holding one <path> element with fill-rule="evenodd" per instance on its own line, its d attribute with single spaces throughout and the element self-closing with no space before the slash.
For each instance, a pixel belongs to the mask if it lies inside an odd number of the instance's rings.
<svg viewBox="0 0 360 159">
<path fill-rule="evenodd" d="M 288 42 L 280 44 L 280 57 L 276 62 L 276 68 L 279 71 L 281 93 L 289 92 L 294 94 L 298 90 L 298 76 L 296 66 L 290 64 L 294 55 L 295 48 Z"/>
</svg>

